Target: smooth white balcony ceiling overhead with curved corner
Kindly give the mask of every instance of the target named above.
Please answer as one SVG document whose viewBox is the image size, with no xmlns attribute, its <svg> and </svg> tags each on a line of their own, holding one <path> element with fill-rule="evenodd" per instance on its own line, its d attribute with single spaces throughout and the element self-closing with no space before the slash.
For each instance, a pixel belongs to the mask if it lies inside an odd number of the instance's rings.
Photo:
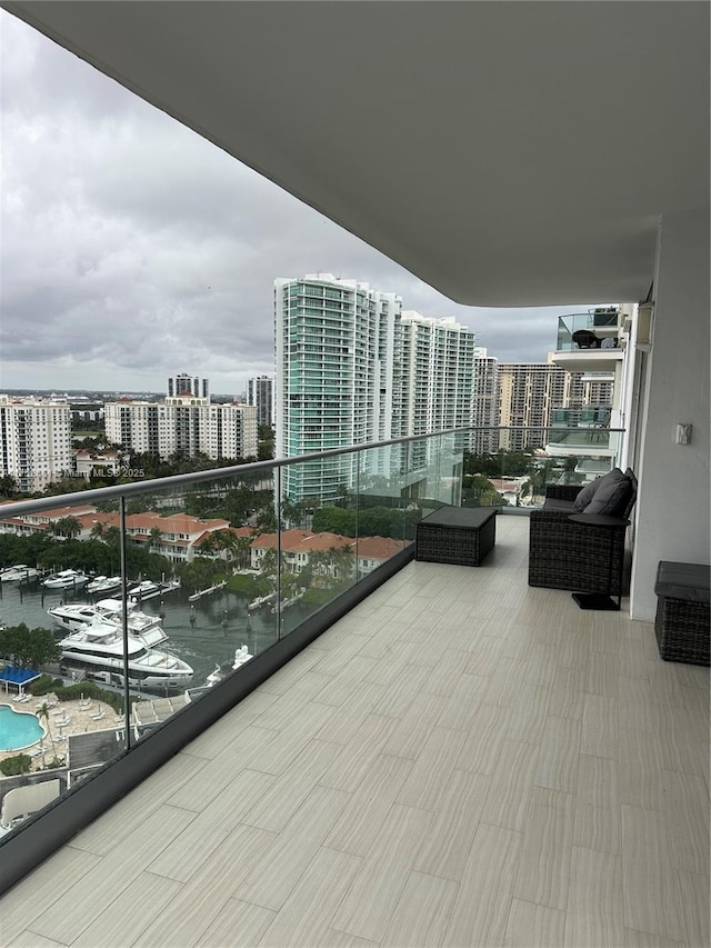
<svg viewBox="0 0 711 948">
<path fill-rule="evenodd" d="M 707 2 L 4 2 L 453 300 L 639 300 L 709 202 Z"/>
</svg>

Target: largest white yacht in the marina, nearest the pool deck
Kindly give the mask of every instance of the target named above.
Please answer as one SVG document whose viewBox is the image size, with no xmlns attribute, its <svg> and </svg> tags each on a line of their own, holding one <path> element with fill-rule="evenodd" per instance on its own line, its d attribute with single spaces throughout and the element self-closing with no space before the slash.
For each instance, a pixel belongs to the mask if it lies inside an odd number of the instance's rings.
<svg viewBox="0 0 711 948">
<path fill-rule="evenodd" d="M 123 686 L 123 636 L 113 622 L 96 622 L 63 638 L 61 665 L 88 680 Z M 170 652 L 147 648 L 137 637 L 128 638 L 128 683 L 146 691 L 182 690 L 190 687 L 192 668 Z"/>
</svg>

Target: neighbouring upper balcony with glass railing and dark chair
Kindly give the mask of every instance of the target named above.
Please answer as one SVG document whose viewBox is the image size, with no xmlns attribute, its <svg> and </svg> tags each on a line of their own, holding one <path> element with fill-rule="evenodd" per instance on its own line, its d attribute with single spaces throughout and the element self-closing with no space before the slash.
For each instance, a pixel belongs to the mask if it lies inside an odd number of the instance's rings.
<svg viewBox="0 0 711 948">
<path fill-rule="evenodd" d="M 570 313 L 558 319 L 552 361 L 570 372 L 605 372 L 623 357 L 618 307 Z"/>
</svg>

